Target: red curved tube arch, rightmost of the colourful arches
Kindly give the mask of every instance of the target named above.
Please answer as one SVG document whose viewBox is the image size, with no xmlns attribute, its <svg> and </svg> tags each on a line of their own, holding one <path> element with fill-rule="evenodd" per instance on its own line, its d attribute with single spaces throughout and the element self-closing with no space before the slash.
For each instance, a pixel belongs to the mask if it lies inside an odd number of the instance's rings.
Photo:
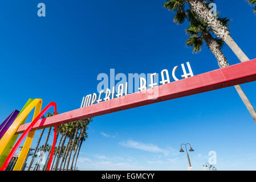
<svg viewBox="0 0 256 182">
<path fill-rule="evenodd" d="M 30 130 L 32 129 L 32 127 L 35 125 L 36 122 L 38 122 L 38 120 L 42 117 L 42 115 L 44 113 L 46 113 L 46 111 L 48 109 L 50 109 L 51 106 L 54 106 L 54 113 L 55 115 L 57 115 L 57 106 L 55 102 L 51 102 L 50 104 L 48 104 L 41 112 L 40 114 L 38 114 L 38 116 L 34 119 L 34 121 L 32 121 L 29 125 L 29 127 L 27 127 L 27 129 L 24 131 L 24 133 L 21 135 L 21 137 L 19 138 L 19 140 L 17 141 L 17 143 L 15 143 L 15 146 L 13 147 L 13 149 L 11 150 L 10 154 L 7 156 L 5 163 L 3 163 L 2 167 L 0 168 L 0 171 L 5 171 L 5 169 L 7 168 L 11 158 L 13 158 L 14 153 L 17 151 L 17 148 L 19 147 L 19 145 L 21 144 L 21 142 L 23 141 L 23 139 L 26 137 L 26 135 L 30 132 Z M 50 155 L 50 160 L 47 166 L 47 171 L 50 170 L 51 166 L 51 161 L 52 161 L 52 156 L 54 154 L 54 149 L 55 149 L 55 143 L 56 143 L 56 135 L 57 135 L 57 126 L 55 126 L 55 131 L 54 131 L 54 141 L 52 142 L 52 148 L 51 148 L 51 155 Z"/>
</svg>

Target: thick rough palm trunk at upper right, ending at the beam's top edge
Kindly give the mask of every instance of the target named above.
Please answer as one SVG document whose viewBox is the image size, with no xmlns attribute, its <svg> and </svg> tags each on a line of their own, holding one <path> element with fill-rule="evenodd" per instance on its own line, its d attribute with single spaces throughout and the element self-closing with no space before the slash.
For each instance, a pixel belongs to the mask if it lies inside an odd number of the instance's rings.
<svg viewBox="0 0 256 182">
<path fill-rule="evenodd" d="M 188 0 L 188 3 L 195 13 L 213 29 L 214 34 L 224 40 L 241 62 L 249 61 L 249 58 L 245 55 L 242 49 L 239 48 L 231 38 L 229 29 L 209 11 L 208 7 L 206 7 L 204 3 L 200 0 Z"/>
</svg>

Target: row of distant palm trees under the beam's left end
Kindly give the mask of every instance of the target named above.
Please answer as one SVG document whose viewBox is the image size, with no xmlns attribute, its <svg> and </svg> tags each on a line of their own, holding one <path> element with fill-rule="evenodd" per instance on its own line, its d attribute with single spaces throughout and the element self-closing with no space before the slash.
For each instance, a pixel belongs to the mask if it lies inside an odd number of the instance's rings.
<svg viewBox="0 0 256 182">
<path fill-rule="evenodd" d="M 46 117 L 51 117 L 52 115 L 54 114 L 48 113 Z M 42 118 L 46 117 L 43 116 Z M 58 142 L 56 143 L 58 144 L 55 146 L 51 171 L 72 171 L 76 169 L 80 148 L 84 140 L 88 138 L 88 133 L 86 131 L 90 122 L 92 122 L 92 118 L 66 123 L 57 127 L 56 137 Z M 45 131 L 45 129 L 42 129 L 28 171 L 46 171 L 52 148 L 52 146 L 48 144 L 51 130 L 51 127 L 49 127 L 44 144 L 39 146 Z"/>
</svg>

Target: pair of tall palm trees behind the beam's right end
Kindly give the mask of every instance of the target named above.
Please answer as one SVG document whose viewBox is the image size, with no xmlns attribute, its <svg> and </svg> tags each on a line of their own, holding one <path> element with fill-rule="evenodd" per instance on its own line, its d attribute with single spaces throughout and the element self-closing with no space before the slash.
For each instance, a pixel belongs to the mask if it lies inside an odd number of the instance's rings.
<svg viewBox="0 0 256 182">
<path fill-rule="evenodd" d="M 193 47 L 193 52 L 201 50 L 204 42 L 214 54 L 220 68 L 229 66 L 227 59 L 222 52 L 222 46 L 226 43 L 235 53 L 241 62 L 249 61 L 250 59 L 245 55 L 237 43 L 231 37 L 228 18 L 221 18 L 220 14 L 214 15 L 210 11 L 210 3 L 214 0 L 165 0 L 164 7 L 176 13 L 174 22 L 182 24 L 189 23 L 186 28 L 186 33 L 189 38 L 186 40 L 186 45 Z M 247 0 L 251 5 L 255 5 L 256 0 Z M 256 123 L 256 112 L 251 105 L 251 102 L 243 92 L 240 85 L 235 85 L 239 96 L 246 105 L 251 116 Z"/>
</svg>

